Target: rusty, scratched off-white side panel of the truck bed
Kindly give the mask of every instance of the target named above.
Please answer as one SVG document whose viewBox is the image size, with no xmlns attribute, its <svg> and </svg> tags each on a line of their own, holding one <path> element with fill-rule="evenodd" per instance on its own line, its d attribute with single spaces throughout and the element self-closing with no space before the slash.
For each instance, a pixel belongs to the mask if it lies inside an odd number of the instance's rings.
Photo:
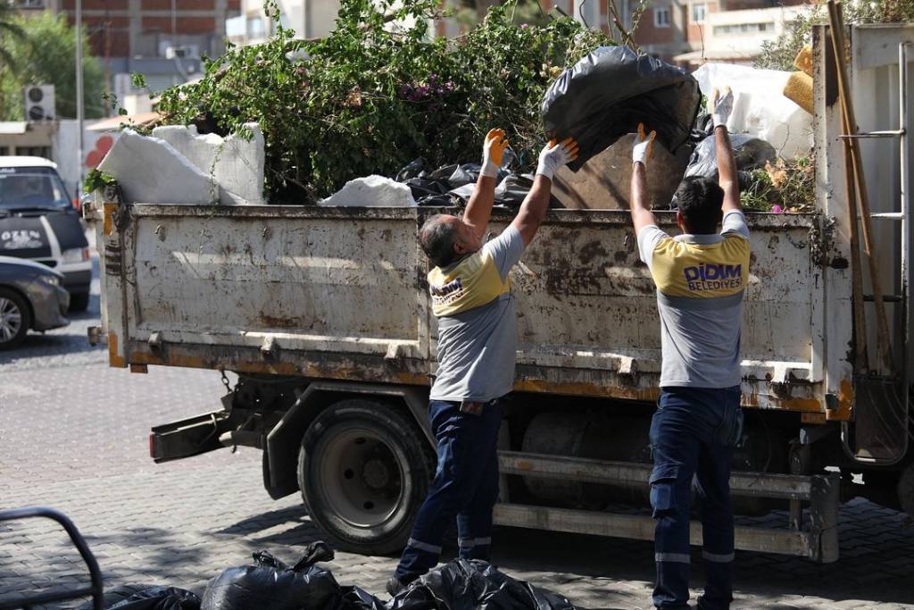
<svg viewBox="0 0 914 610">
<path fill-rule="evenodd" d="M 112 366 L 427 385 L 436 326 L 415 233 L 436 211 L 106 204 Z M 658 218 L 675 230 L 672 213 Z M 492 232 L 509 219 L 496 213 Z M 825 413 L 820 218 L 749 223 L 743 401 Z M 654 400 L 656 297 L 627 212 L 552 210 L 511 279 L 517 390 Z"/>
</svg>

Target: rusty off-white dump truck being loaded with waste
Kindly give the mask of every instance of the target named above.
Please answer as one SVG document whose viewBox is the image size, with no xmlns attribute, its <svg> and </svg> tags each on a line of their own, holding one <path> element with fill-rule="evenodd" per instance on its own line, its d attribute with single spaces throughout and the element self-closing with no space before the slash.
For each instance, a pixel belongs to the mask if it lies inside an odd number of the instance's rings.
<svg viewBox="0 0 914 610">
<path fill-rule="evenodd" d="M 914 27 L 852 29 L 859 134 L 842 127 L 829 40 L 815 27 L 814 209 L 748 214 L 746 426 L 731 480 L 740 513 L 779 516 L 740 523 L 737 548 L 817 562 L 838 558 L 846 498 L 914 514 Z M 855 266 L 866 286 L 872 278 L 851 250 L 852 136 L 885 293 L 881 303 L 863 296 L 865 317 L 853 298 Z M 328 540 L 364 553 L 401 548 L 435 469 L 427 405 L 437 331 L 415 236 L 441 211 L 145 204 L 111 188 L 87 204 L 101 259 L 101 326 L 90 338 L 107 343 L 111 366 L 212 369 L 226 382 L 212 412 L 152 429 L 154 460 L 256 447 L 266 492 L 302 494 Z M 674 212 L 656 216 L 675 230 Z M 492 232 L 510 220 L 496 210 Z M 629 213 L 551 209 L 511 281 L 519 336 L 496 523 L 652 540 L 649 513 L 632 505 L 647 505 L 661 346 Z M 879 310 L 889 362 L 877 358 Z M 697 522 L 692 540 L 701 540 Z"/>
</svg>

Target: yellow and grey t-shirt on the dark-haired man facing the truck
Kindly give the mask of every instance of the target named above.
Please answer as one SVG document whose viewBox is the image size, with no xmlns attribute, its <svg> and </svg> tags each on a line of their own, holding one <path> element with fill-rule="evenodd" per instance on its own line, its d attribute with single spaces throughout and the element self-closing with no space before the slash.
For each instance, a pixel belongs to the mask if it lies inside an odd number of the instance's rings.
<svg viewBox="0 0 914 610">
<path fill-rule="evenodd" d="M 728 211 L 719 235 L 671 238 L 650 225 L 638 234 L 638 250 L 657 285 L 660 386 L 739 385 L 742 300 L 749 279 L 746 217 Z"/>
</svg>

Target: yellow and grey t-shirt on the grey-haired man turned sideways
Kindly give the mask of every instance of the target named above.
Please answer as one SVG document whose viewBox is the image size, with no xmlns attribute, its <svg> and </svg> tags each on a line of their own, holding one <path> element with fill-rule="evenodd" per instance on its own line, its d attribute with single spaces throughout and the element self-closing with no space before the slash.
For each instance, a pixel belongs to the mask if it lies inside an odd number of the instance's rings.
<svg viewBox="0 0 914 610">
<path fill-rule="evenodd" d="M 517 311 L 508 273 L 524 239 L 509 226 L 480 251 L 429 273 L 438 317 L 438 373 L 434 401 L 487 402 L 514 387 Z"/>
</svg>

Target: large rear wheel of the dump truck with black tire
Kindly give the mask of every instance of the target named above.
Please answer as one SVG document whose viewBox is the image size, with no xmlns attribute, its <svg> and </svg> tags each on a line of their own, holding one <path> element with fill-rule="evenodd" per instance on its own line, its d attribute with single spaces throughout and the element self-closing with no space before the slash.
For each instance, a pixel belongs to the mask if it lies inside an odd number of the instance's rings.
<svg viewBox="0 0 914 610">
<path fill-rule="evenodd" d="M 314 524 L 343 551 L 384 555 L 409 540 L 435 456 L 406 409 L 339 401 L 304 433 L 298 483 Z"/>
</svg>

